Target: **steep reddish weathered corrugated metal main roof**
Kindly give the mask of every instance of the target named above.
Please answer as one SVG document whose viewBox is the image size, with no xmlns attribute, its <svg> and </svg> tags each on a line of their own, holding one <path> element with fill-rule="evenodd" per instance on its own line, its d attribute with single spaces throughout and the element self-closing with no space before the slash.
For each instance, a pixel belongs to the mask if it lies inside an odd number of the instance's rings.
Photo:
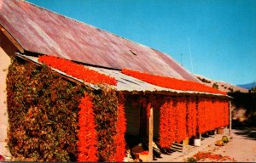
<svg viewBox="0 0 256 163">
<path fill-rule="evenodd" d="M 170 56 L 31 3 L 0 0 L 0 24 L 26 51 L 197 81 Z"/>
</svg>

